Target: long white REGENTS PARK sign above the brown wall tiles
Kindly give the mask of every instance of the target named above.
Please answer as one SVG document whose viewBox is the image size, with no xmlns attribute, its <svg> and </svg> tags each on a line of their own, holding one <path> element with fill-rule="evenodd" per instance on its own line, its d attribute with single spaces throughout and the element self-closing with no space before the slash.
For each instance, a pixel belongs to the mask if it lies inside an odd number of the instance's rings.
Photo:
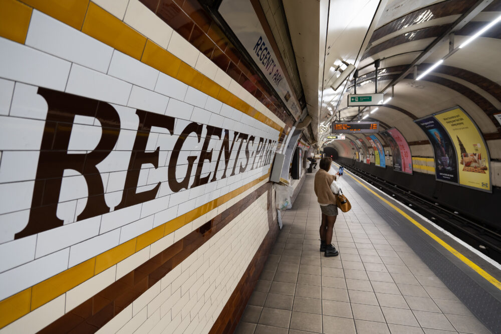
<svg viewBox="0 0 501 334">
<path fill-rule="evenodd" d="M 249 0 L 223 0 L 218 11 L 284 104 L 298 119 L 301 115 L 299 102 L 285 78 L 285 69 L 280 66 L 252 3 Z"/>
</svg>

